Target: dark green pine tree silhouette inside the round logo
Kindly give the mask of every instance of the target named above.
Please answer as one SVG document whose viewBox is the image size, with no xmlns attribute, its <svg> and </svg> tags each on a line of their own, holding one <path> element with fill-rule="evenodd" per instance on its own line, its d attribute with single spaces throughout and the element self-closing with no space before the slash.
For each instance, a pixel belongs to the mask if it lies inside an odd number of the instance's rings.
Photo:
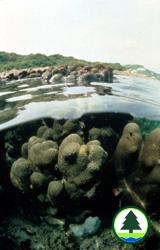
<svg viewBox="0 0 160 250">
<path fill-rule="evenodd" d="M 129 230 L 129 233 L 133 233 L 133 230 L 142 230 L 132 210 L 126 215 L 121 230 Z"/>
</svg>

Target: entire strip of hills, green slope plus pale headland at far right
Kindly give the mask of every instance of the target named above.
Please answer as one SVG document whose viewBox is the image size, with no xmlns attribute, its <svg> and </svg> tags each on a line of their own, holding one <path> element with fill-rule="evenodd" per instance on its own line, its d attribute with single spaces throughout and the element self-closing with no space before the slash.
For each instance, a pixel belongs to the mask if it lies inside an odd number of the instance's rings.
<svg viewBox="0 0 160 250">
<path fill-rule="evenodd" d="M 45 66 L 58 66 L 58 65 L 68 65 L 71 66 L 75 63 L 82 62 L 88 65 L 96 65 L 100 62 L 90 62 L 82 59 L 77 59 L 72 56 L 63 56 L 60 54 L 46 56 L 44 54 L 29 54 L 20 55 L 16 53 L 7 53 L 0 51 L 0 72 L 10 69 L 28 69 L 36 67 Z M 104 63 L 104 62 L 103 62 Z M 131 73 L 137 73 L 141 75 L 147 75 L 148 77 L 155 77 L 160 80 L 160 74 L 155 73 L 149 69 L 144 68 L 142 65 L 138 64 L 127 64 L 122 66 L 120 63 L 104 63 L 105 66 L 109 65 L 115 70 L 124 71 L 130 69 Z"/>
</svg>

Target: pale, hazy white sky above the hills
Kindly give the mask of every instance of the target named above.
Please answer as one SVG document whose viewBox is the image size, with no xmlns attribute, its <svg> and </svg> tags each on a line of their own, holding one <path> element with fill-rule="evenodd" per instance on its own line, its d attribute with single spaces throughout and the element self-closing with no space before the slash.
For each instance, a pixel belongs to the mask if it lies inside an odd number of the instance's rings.
<svg viewBox="0 0 160 250">
<path fill-rule="evenodd" d="M 160 73 L 160 0 L 0 0 L 0 51 Z"/>
</svg>

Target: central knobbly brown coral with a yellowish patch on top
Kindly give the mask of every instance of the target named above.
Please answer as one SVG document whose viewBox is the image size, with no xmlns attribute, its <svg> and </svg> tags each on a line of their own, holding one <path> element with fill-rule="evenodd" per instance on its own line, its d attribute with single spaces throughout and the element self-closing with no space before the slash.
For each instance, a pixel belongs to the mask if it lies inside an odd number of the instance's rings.
<svg viewBox="0 0 160 250">
<path fill-rule="evenodd" d="M 66 137 L 60 145 L 58 168 L 71 199 L 92 198 L 101 183 L 108 154 L 95 144 L 85 145 L 77 134 Z"/>
</svg>

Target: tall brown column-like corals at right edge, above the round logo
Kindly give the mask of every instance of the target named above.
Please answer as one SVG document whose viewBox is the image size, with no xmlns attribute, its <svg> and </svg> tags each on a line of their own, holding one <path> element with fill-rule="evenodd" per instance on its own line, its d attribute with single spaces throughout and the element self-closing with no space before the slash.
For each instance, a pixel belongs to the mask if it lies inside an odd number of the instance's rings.
<svg viewBox="0 0 160 250">
<path fill-rule="evenodd" d="M 129 123 L 111 159 L 119 179 L 120 203 L 148 212 L 160 208 L 160 129 L 143 143 L 139 126 Z"/>
</svg>

